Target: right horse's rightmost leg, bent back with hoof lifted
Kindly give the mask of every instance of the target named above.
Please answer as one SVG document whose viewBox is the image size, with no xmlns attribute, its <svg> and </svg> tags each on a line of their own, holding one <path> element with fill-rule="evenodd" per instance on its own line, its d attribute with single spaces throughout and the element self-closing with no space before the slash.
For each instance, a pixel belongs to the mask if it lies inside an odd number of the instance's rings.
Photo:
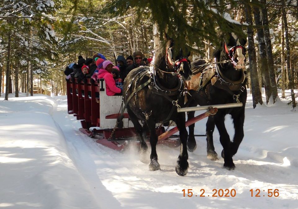
<svg viewBox="0 0 298 209">
<path fill-rule="evenodd" d="M 233 116 L 232 116 L 233 117 Z M 237 153 L 240 143 L 244 137 L 243 123 L 244 123 L 244 108 L 240 114 L 233 117 L 233 123 L 235 128 L 235 135 L 233 142 L 230 144 L 231 155 L 234 156 Z"/>
</svg>

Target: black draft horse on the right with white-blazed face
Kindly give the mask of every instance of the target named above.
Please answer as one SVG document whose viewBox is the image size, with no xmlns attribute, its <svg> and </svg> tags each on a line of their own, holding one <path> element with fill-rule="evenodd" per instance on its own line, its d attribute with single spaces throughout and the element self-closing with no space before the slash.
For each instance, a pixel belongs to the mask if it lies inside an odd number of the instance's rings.
<svg viewBox="0 0 298 209">
<path fill-rule="evenodd" d="M 197 74 L 194 73 L 190 81 L 186 81 L 186 86 L 190 90 L 193 98 L 190 99 L 189 106 L 218 105 L 233 102 L 242 102 L 242 107 L 218 109 L 217 114 L 209 116 L 206 123 L 207 135 L 207 157 L 210 160 L 218 160 L 217 153 L 213 145 L 213 131 L 216 125 L 220 143 L 223 146 L 221 156 L 224 158 L 224 168 L 235 169 L 232 156 L 238 150 L 244 137 L 244 109 L 246 103 L 246 71 L 245 71 L 245 47 L 246 39 L 238 38 L 234 33 L 220 35 L 221 48 L 214 53 L 214 61 L 219 62 L 210 67 L 203 67 Z M 227 40 L 227 41 L 226 41 Z M 205 64 L 206 60 L 196 60 L 192 62 L 192 71 L 198 69 L 197 66 Z M 199 91 L 194 91 L 199 90 Z M 233 118 L 235 135 L 233 142 L 224 125 L 226 114 Z M 187 119 L 194 117 L 194 112 L 187 113 Z M 189 136 L 187 149 L 194 151 L 196 141 L 194 137 L 194 124 L 189 126 Z"/>
</svg>

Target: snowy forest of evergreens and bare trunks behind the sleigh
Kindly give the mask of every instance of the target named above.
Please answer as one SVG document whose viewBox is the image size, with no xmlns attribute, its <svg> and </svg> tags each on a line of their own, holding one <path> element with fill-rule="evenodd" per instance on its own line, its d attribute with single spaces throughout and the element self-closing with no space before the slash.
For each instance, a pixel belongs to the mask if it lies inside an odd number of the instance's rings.
<svg viewBox="0 0 298 209">
<path fill-rule="evenodd" d="M 242 32 L 234 24 L 242 24 Z M 102 53 L 115 62 L 141 50 L 154 54 L 164 32 L 192 50 L 189 59 L 212 58 L 219 31 L 247 37 L 248 87 L 254 107 L 284 97 L 296 108 L 297 0 L 3 0 L 0 2 L 0 91 L 65 95 L 65 67 Z M 33 87 L 33 88 L 32 88 Z"/>
</svg>

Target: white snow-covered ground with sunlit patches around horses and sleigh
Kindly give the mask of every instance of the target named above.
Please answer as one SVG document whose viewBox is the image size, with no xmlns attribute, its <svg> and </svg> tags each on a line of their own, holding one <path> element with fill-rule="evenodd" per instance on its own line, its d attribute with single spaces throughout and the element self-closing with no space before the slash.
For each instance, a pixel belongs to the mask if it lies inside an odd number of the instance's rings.
<svg viewBox="0 0 298 209">
<path fill-rule="evenodd" d="M 179 148 L 159 146 L 161 170 L 150 172 L 134 148 L 114 151 L 79 132 L 65 96 L 11 95 L 0 102 L 0 208 L 298 208 L 298 115 L 286 102 L 253 109 L 249 95 L 236 169 L 223 169 L 221 157 L 208 160 L 205 137 L 197 137 L 181 177 Z M 196 123 L 196 134 L 205 133 L 205 123 Z M 226 127 L 232 138 L 229 116 Z M 220 156 L 217 129 L 214 146 Z M 236 196 L 212 197 L 213 189 L 234 189 Z M 268 197 L 268 189 L 279 196 Z"/>
</svg>

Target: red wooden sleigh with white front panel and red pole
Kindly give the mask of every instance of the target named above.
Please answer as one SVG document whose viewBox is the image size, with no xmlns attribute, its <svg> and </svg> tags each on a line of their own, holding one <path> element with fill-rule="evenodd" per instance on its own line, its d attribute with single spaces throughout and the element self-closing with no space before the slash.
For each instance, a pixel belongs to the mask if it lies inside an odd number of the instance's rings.
<svg viewBox="0 0 298 209">
<path fill-rule="evenodd" d="M 121 128 L 118 128 L 117 118 L 122 111 L 122 96 L 106 95 L 104 79 L 97 81 L 84 79 L 84 81 L 80 81 L 77 78 L 71 78 L 66 80 L 66 84 L 68 114 L 73 114 L 81 122 L 82 128 L 79 128 L 79 130 L 82 133 L 96 139 L 97 143 L 118 151 L 124 150 L 130 143 L 136 142 L 138 144 L 137 133 L 126 111 L 123 114 Z M 211 114 L 216 114 L 217 108 L 233 107 L 233 105 L 239 106 L 239 104 L 225 104 L 217 107 L 180 108 L 178 111 L 207 110 L 205 113 L 187 121 L 186 126 L 189 126 Z M 142 123 L 142 121 L 140 122 Z M 168 128 L 165 129 L 162 124 L 157 125 L 158 144 L 170 147 L 180 146 L 179 136 L 174 135 L 178 132 L 178 128 L 167 130 Z M 147 136 L 149 136 L 149 133 L 147 133 Z"/>
</svg>

